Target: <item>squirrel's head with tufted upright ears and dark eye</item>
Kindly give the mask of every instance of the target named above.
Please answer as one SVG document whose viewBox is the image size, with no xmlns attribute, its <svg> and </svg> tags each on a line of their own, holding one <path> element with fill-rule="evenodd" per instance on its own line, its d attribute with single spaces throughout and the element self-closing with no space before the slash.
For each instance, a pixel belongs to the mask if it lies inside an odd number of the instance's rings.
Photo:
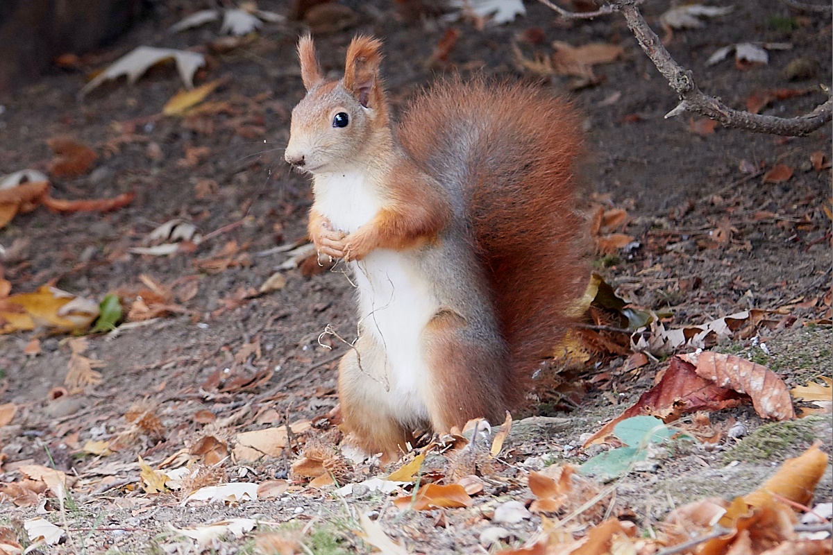
<svg viewBox="0 0 833 555">
<path fill-rule="evenodd" d="M 388 130 L 387 103 L 379 80 L 382 42 L 355 37 L 347 48 L 344 77 L 327 82 L 312 37 L 298 42 L 301 77 L 307 96 L 292 110 L 285 158 L 312 174 L 338 171 L 378 146 L 379 130 Z"/>
</svg>

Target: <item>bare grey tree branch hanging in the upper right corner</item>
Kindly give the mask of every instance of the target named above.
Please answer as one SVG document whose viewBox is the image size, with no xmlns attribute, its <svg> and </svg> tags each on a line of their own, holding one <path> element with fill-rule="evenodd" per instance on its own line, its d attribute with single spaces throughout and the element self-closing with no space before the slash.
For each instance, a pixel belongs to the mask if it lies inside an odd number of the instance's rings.
<svg viewBox="0 0 833 555">
<path fill-rule="evenodd" d="M 596 12 L 569 12 L 555 6 L 550 0 L 539 0 L 553 11 L 569 19 L 586 19 L 612 12 L 621 12 L 627 26 L 639 42 L 642 51 L 651 59 L 656 69 L 668 80 L 668 84 L 679 95 L 680 104 L 666 114 L 666 118 L 678 116 L 684 111 L 720 121 L 725 127 L 744 129 L 755 133 L 772 135 L 803 136 L 833 119 L 833 98 L 828 93 L 828 100 L 809 114 L 796 117 L 777 117 L 753 114 L 749 111 L 735 110 L 727 107 L 719 97 L 711 97 L 700 90 L 694 82 L 691 70 L 682 67 L 671 57 L 671 53 L 662 45 L 660 37 L 651 29 L 637 7 L 641 0 L 613 0 Z"/>
</svg>

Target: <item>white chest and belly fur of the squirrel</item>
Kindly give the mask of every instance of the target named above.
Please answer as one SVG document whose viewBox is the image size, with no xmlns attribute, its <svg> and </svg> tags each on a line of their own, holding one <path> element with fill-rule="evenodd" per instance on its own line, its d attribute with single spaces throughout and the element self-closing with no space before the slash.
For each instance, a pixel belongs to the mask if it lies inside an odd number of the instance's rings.
<svg viewBox="0 0 833 555">
<path fill-rule="evenodd" d="M 381 207 L 358 172 L 316 176 L 315 194 L 317 211 L 348 233 L 370 221 Z M 387 387 L 387 403 L 398 419 L 425 420 L 429 376 L 420 339 L 439 308 L 431 288 L 415 271 L 412 258 L 396 250 L 374 250 L 350 266 L 360 330 L 372 334 L 386 353 L 385 368 L 372 369 L 382 375 L 373 378 Z"/>
</svg>

